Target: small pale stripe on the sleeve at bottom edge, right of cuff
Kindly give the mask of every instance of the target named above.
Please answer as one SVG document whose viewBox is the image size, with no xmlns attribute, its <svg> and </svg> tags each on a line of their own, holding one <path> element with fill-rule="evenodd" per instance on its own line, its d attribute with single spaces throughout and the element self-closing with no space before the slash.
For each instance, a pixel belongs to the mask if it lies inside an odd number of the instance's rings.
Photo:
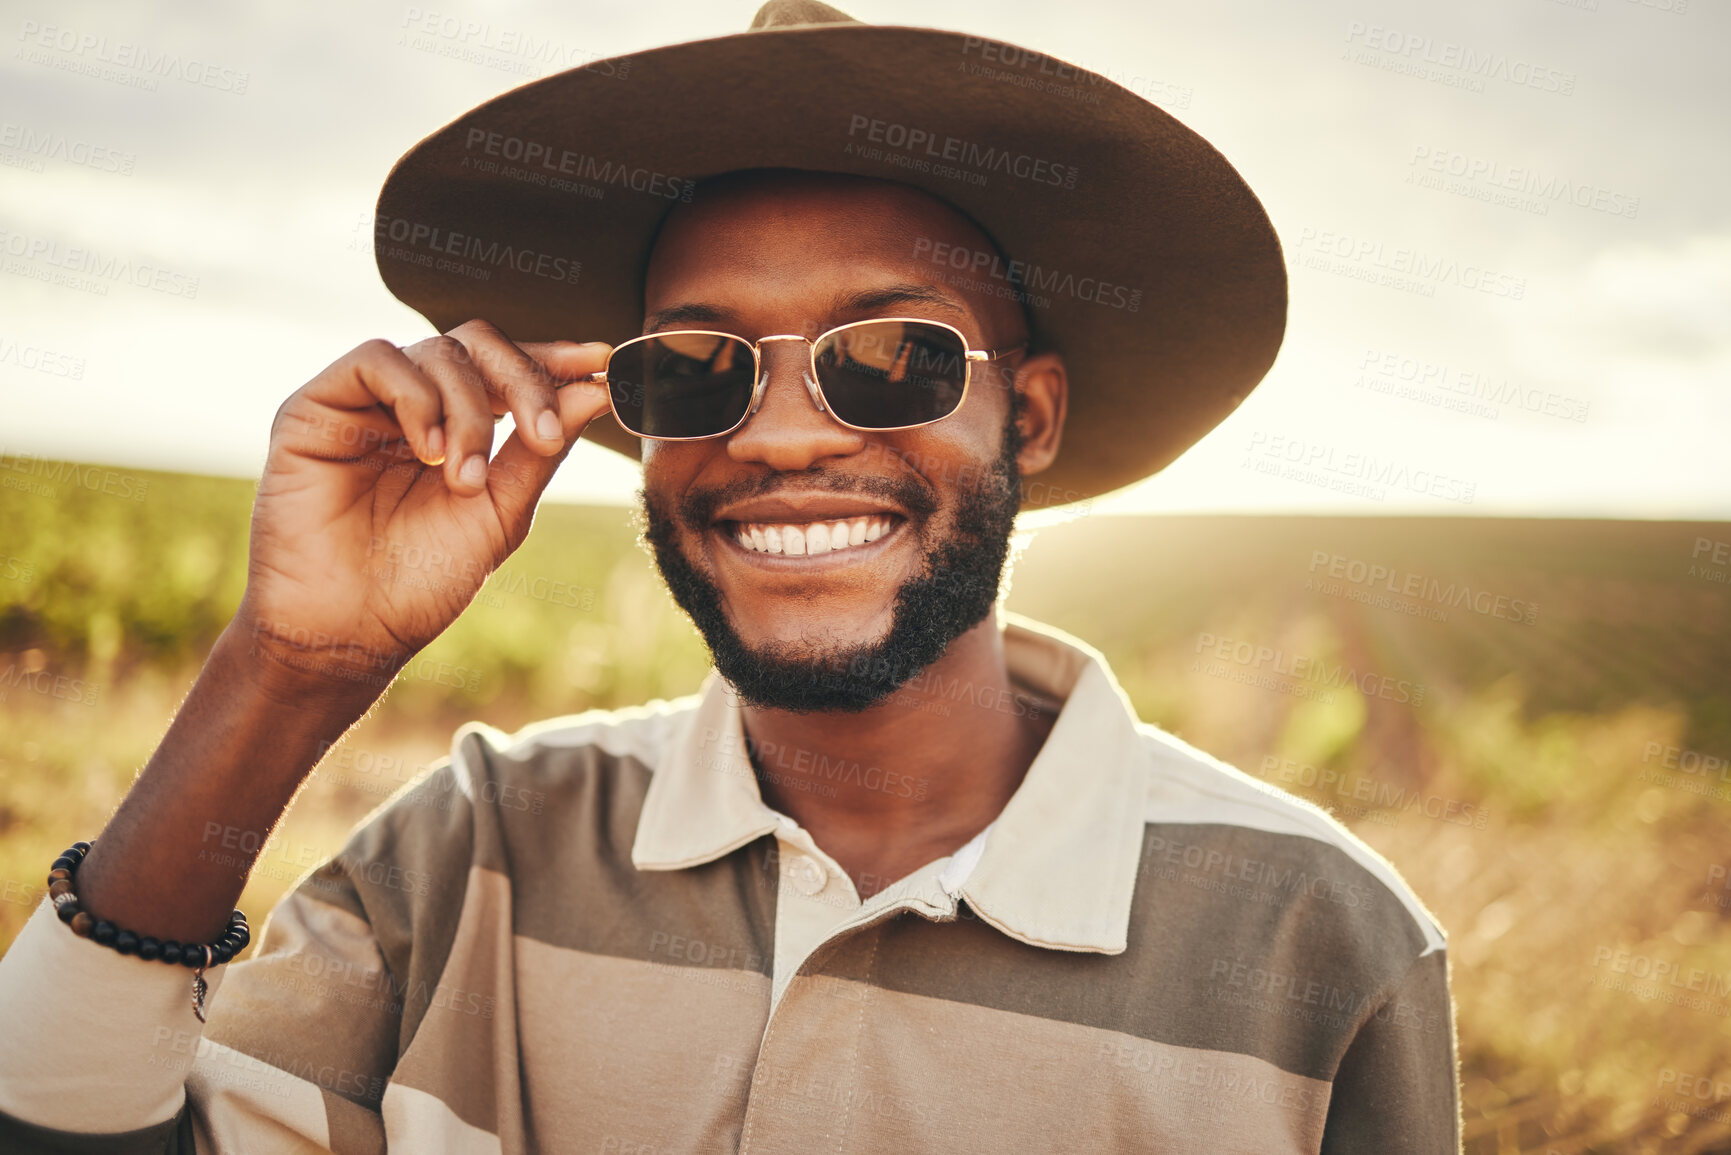
<svg viewBox="0 0 1731 1155">
<path fill-rule="evenodd" d="M 329 1152 L 324 1096 L 305 1079 L 206 1039 L 187 1077 L 201 1152 Z"/>
</svg>

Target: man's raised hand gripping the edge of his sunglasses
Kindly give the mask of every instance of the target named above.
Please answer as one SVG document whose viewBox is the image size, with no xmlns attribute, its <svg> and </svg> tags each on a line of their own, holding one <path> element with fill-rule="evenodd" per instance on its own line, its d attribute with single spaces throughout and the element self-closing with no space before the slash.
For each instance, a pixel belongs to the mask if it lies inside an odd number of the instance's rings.
<svg viewBox="0 0 1731 1155">
<path fill-rule="evenodd" d="M 606 355 L 471 320 L 402 350 L 369 341 L 289 397 L 235 620 L 254 655 L 383 691 L 523 542 L 554 469 L 608 409 L 604 384 L 575 383 Z M 507 412 L 516 429 L 488 461 Z"/>
</svg>

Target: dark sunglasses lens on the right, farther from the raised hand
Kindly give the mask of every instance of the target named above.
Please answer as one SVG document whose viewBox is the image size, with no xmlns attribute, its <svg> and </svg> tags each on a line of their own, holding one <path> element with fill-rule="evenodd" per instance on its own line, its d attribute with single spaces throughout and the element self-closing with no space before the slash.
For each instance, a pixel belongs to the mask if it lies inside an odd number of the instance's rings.
<svg viewBox="0 0 1731 1155">
<path fill-rule="evenodd" d="M 943 326 L 864 320 L 819 341 L 817 381 L 829 409 L 848 424 L 924 424 L 962 403 L 968 346 Z"/>
</svg>

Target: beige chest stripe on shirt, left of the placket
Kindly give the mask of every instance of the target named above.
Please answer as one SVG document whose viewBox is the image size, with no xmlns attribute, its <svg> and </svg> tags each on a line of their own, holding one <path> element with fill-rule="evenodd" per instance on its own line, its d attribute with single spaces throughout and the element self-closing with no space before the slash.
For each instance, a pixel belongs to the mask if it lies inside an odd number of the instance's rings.
<svg viewBox="0 0 1731 1155">
<path fill-rule="evenodd" d="M 769 1010 L 756 971 L 518 939 L 526 1101 L 544 1152 L 732 1152 Z"/>
</svg>

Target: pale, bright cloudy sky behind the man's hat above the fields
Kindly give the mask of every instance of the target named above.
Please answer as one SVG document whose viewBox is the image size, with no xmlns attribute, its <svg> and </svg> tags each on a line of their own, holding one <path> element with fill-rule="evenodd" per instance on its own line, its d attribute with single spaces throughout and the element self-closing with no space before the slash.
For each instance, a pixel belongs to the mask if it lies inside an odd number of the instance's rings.
<svg viewBox="0 0 1731 1155">
<path fill-rule="evenodd" d="M 1113 507 L 1731 516 L 1731 5 L 843 7 L 1101 71 L 1212 140 L 1267 206 L 1291 268 L 1274 371 Z M 5 9 L 0 454 L 232 476 L 256 476 L 277 405 L 344 350 L 428 334 L 374 270 L 372 204 L 422 135 L 557 68 L 511 45 L 587 61 L 753 10 Z M 74 248 L 151 277 L 61 275 Z M 1378 500 L 1286 468 L 1350 455 L 1459 485 Z M 554 481 L 571 500 L 634 488 L 589 447 Z"/>
</svg>

